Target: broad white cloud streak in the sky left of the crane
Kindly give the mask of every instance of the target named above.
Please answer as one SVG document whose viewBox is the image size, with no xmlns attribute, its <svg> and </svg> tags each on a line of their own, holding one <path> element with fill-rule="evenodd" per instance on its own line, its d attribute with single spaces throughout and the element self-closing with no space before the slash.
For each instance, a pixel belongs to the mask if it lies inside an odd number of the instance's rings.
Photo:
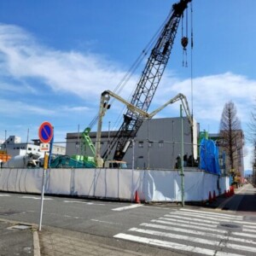
<svg viewBox="0 0 256 256">
<path fill-rule="evenodd" d="M 61 52 L 40 45 L 18 26 L 0 25 L 0 53 L 2 76 L 40 79 L 55 92 L 73 93 L 84 99 L 98 98 L 125 75 L 102 56 Z"/>
</svg>

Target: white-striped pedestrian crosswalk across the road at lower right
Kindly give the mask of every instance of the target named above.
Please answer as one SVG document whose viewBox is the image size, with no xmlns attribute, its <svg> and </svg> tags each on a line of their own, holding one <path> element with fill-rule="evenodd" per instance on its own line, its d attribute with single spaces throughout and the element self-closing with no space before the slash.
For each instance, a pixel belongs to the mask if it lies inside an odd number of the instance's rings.
<svg viewBox="0 0 256 256">
<path fill-rule="evenodd" d="M 228 213 L 181 208 L 113 237 L 188 255 L 256 255 L 256 222 Z"/>
</svg>

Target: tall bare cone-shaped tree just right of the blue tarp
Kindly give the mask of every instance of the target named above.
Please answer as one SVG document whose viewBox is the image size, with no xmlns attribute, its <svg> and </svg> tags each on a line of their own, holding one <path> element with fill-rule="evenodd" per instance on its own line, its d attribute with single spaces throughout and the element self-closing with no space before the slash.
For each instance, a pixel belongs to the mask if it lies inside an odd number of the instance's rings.
<svg viewBox="0 0 256 256">
<path fill-rule="evenodd" d="M 223 113 L 219 125 L 219 134 L 221 137 L 220 146 L 224 148 L 230 159 L 230 169 L 235 168 L 235 159 L 238 157 L 237 150 L 243 145 L 243 133 L 241 131 L 240 119 L 236 116 L 236 106 L 234 102 L 227 102 L 224 105 Z"/>
</svg>

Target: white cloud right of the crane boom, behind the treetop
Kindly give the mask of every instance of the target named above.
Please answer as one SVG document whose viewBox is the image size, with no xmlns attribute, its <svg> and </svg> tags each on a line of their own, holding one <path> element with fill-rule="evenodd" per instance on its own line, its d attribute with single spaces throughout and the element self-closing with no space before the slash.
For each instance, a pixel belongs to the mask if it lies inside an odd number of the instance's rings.
<svg viewBox="0 0 256 256">
<path fill-rule="evenodd" d="M 180 80 L 166 76 L 163 84 L 163 88 L 158 92 L 155 99 L 157 102 L 163 104 L 181 92 L 187 96 L 191 110 L 190 79 Z M 218 131 L 224 104 L 229 101 L 235 103 L 237 116 L 241 119 L 241 124 L 245 126 L 249 119 L 249 109 L 252 110 L 253 103 L 255 103 L 255 96 L 256 80 L 247 79 L 242 75 L 223 73 L 193 79 L 193 113 L 195 119 L 201 125 L 205 125 L 203 129 L 206 130 L 207 126 L 210 125 Z M 177 108 L 177 106 L 173 108 Z"/>
</svg>

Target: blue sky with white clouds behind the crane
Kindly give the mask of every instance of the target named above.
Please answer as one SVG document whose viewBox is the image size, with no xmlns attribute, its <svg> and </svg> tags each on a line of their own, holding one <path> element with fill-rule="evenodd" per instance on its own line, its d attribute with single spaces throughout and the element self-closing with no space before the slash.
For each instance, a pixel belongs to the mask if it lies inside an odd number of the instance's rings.
<svg viewBox="0 0 256 256">
<path fill-rule="evenodd" d="M 83 130 L 103 90 L 114 90 L 166 19 L 174 0 L 0 1 L 0 139 L 38 137 L 55 126 L 55 141 Z M 201 131 L 218 132 L 224 103 L 233 101 L 243 130 L 256 101 L 256 1 L 193 1 L 193 113 Z M 189 10 L 190 11 L 190 10 Z M 190 27 L 190 25 L 189 25 Z M 190 33 L 190 32 L 189 32 Z M 151 110 L 182 92 L 191 104 L 189 67 L 182 67 L 181 26 Z M 121 92 L 130 95 L 143 70 Z M 104 119 L 118 127 L 118 104 Z M 174 104 L 157 117 L 177 117 Z M 96 129 L 96 127 L 94 127 Z M 251 150 L 247 143 L 246 166 Z"/>
</svg>

